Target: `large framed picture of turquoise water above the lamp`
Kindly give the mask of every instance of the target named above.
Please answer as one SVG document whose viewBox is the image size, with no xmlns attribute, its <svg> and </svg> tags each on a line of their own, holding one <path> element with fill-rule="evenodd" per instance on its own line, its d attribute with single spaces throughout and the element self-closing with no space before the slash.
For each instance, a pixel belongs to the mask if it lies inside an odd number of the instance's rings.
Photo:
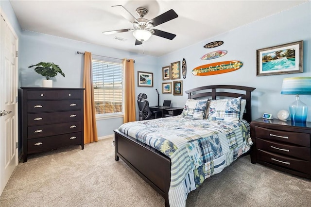
<svg viewBox="0 0 311 207">
<path fill-rule="evenodd" d="M 303 72 L 303 40 L 257 50 L 257 76 Z"/>
</svg>

